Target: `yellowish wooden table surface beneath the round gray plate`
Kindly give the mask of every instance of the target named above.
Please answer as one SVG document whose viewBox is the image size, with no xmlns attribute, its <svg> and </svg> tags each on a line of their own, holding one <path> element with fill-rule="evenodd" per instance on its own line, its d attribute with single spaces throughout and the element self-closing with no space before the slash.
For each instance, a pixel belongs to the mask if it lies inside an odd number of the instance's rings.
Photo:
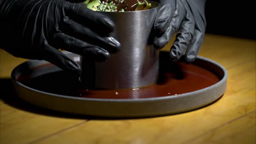
<svg viewBox="0 0 256 144">
<path fill-rule="evenodd" d="M 26 59 L 1 50 L 0 143 L 255 144 L 255 49 L 255 40 L 206 34 L 199 55 L 228 70 L 223 97 L 194 111 L 138 119 L 73 116 L 25 103 L 13 93 L 10 73 Z"/>
</svg>

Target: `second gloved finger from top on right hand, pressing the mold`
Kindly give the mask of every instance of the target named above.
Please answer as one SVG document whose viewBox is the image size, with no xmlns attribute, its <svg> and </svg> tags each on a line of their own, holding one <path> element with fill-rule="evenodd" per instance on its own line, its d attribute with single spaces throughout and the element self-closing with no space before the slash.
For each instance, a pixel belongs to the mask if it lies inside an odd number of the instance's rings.
<svg viewBox="0 0 256 144">
<path fill-rule="evenodd" d="M 161 35 L 161 37 L 155 37 L 154 38 L 154 44 L 153 46 L 160 50 L 162 49 L 172 38 L 175 32 L 178 31 L 179 26 L 181 25 L 182 20 L 184 19 L 186 15 L 186 10 L 184 9 L 183 5 L 180 1 L 177 1 L 176 3 L 176 10 L 173 14 L 173 19 L 170 23 L 170 26 L 166 29 L 165 33 Z"/>
</svg>

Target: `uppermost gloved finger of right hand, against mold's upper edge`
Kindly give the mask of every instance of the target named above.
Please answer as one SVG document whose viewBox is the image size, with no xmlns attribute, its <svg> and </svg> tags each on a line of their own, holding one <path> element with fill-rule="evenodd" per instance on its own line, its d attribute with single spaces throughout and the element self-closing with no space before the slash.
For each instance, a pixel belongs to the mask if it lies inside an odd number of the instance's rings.
<svg viewBox="0 0 256 144">
<path fill-rule="evenodd" d="M 162 34 L 170 26 L 173 13 L 175 11 L 176 0 L 160 1 L 160 8 L 156 15 L 154 29 L 158 34 Z"/>
</svg>

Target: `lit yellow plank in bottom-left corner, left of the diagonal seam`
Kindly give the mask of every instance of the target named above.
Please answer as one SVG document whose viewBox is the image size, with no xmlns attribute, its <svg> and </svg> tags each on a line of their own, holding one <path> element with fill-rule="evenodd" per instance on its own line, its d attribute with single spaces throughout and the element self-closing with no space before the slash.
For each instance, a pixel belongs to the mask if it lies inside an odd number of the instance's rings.
<svg viewBox="0 0 256 144">
<path fill-rule="evenodd" d="M 11 107 L 0 105 L 0 143 L 30 143 L 51 134 L 86 122 L 82 119 L 60 118 L 38 115 Z"/>
</svg>

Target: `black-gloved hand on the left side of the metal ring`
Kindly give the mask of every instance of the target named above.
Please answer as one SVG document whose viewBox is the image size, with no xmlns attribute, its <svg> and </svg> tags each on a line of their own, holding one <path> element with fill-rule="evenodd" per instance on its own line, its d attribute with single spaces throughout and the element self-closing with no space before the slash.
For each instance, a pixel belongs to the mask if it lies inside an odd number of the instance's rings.
<svg viewBox="0 0 256 144">
<path fill-rule="evenodd" d="M 84 0 L 83 0 L 84 1 Z M 73 2 L 83 2 L 73 0 Z M 80 71 L 61 51 L 104 61 L 120 43 L 108 36 L 114 23 L 108 17 L 72 0 L 1 0 L 0 47 L 16 57 L 44 59 L 69 71 Z"/>
</svg>

